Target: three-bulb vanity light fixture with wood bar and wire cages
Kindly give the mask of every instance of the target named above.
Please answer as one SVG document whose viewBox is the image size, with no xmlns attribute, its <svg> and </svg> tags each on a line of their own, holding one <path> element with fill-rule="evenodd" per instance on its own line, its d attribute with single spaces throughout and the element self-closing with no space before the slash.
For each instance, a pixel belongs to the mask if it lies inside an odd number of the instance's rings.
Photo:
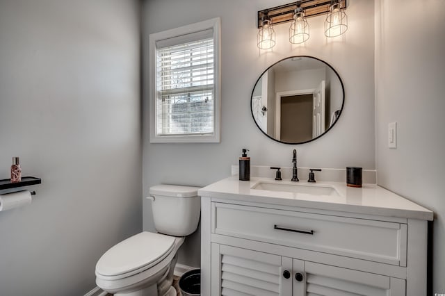
<svg viewBox="0 0 445 296">
<path fill-rule="evenodd" d="M 292 22 L 289 42 L 300 44 L 309 39 L 307 17 L 325 15 L 325 36 L 335 37 L 348 29 L 346 0 L 300 0 L 258 11 L 258 48 L 271 49 L 275 45 L 273 25 Z"/>
</svg>

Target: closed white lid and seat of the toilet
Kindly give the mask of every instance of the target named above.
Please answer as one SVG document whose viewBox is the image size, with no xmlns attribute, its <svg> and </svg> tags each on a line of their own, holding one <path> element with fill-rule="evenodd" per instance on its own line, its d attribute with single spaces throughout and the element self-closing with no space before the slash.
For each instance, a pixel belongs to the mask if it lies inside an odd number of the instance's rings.
<svg viewBox="0 0 445 296">
<path fill-rule="evenodd" d="M 96 272 L 115 276 L 151 268 L 172 252 L 174 243 L 172 236 L 147 231 L 138 233 L 108 249 L 97 261 Z"/>
</svg>

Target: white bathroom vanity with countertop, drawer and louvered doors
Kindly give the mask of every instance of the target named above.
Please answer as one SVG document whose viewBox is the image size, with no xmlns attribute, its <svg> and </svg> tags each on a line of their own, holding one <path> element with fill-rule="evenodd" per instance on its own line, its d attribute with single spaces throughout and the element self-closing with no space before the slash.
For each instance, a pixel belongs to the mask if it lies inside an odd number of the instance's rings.
<svg viewBox="0 0 445 296">
<path fill-rule="evenodd" d="M 426 295 L 433 213 L 374 184 L 232 176 L 201 196 L 201 295 Z"/>
</svg>

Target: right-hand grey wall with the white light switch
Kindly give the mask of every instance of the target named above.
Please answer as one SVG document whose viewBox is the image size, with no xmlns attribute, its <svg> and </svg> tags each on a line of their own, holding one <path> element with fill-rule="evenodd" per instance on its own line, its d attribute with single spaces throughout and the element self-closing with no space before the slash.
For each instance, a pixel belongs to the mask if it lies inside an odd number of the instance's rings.
<svg viewBox="0 0 445 296">
<path fill-rule="evenodd" d="M 375 4 L 378 183 L 435 212 L 433 290 L 445 293 L 445 1 Z M 397 149 L 387 148 L 389 122 Z"/>
</svg>

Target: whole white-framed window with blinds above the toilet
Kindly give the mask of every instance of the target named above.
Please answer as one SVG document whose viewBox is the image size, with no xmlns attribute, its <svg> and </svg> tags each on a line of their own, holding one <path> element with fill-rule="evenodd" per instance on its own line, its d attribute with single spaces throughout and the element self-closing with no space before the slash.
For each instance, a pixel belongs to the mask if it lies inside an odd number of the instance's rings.
<svg viewBox="0 0 445 296">
<path fill-rule="evenodd" d="M 150 142 L 220 141 L 220 19 L 151 34 Z"/>
</svg>

